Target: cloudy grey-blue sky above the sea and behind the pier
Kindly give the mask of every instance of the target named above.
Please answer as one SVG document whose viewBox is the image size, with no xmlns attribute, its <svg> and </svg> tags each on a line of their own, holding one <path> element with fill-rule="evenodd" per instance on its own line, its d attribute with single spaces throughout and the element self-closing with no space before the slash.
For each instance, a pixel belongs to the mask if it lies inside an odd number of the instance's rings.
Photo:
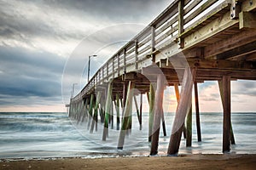
<svg viewBox="0 0 256 170">
<path fill-rule="evenodd" d="M 0 0 L 0 111 L 66 111 L 74 94 L 170 0 Z M 232 82 L 232 111 L 256 111 L 256 83 Z M 222 111 L 217 82 L 199 85 L 201 111 Z M 175 111 L 166 88 L 166 111 Z"/>
</svg>

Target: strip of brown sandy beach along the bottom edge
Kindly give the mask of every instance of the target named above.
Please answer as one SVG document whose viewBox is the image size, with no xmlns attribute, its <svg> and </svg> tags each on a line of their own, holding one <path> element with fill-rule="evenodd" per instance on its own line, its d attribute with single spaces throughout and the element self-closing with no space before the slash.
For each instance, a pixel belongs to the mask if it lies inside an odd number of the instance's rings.
<svg viewBox="0 0 256 170">
<path fill-rule="evenodd" d="M 0 169 L 255 169 L 256 155 L 186 155 L 117 158 L 1 160 Z"/>
</svg>

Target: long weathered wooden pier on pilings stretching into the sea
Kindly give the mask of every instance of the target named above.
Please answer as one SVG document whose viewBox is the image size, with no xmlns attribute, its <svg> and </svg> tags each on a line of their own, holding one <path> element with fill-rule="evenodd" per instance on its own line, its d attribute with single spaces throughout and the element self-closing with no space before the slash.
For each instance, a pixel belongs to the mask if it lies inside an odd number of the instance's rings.
<svg viewBox="0 0 256 170">
<path fill-rule="evenodd" d="M 228 152 L 230 144 L 235 144 L 230 119 L 230 81 L 255 80 L 255 60 L 256 0 L 175 0 L 102 65 L 71 99 L 69 116 L 78 122 L 87 120 L 90 133 L 97 130 L 98 122 L 104 123 L 102 140 L 106 140 L 116 110 L 117 148 L 123 149 L 125 135 L 131 131 L 132 101 L 141 125 L 142 100 L 147 95 L 150 155 L 156 155 L 160 129 L 166 131 L 164 90 L 174 86 L 178 105 L 166 150 L 168 155 L 177 155 L 182 133 L 187 146 L 191 146 L 193 86 L 200 142 L 197 84 L 218 81 L 224 113 L 223 152 Z M 134 96 L 140 96 L 140 103 Z"/>
</svg>

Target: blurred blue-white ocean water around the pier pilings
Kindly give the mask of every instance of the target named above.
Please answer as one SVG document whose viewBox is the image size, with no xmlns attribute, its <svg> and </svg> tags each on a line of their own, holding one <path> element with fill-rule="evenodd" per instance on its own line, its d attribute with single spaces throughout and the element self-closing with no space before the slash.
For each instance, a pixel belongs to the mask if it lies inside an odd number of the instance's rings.
<svg viewBox="0 0 256 170">
<path fill-rule="evenodd" d="M 115 118 L 115 117 L 114 117 Z M 166 156 L 174 114 L 165 113 L 166 133 L 160 129 L 159 155 Z M 230 153 L 256 154 L 256 113 L 232 113 L 236 144 Z M 179 154 L 222 154 L 222 113 L 201 113 L 202 142 L 197 142 L 193 114 L 192 147 L 182 137 Z M 148 156 L 148 113 L 143 113 L 143 129 L 139 129 L 136 113 L 131 133 L 125 136 L 123 150 L 117 150 L 119 131 L 109 126 L 108 139 L 102 141 L 103 125 L 90 133 L 87 122 L 70 120 L 67 113 L 0 113 L 0 159 L 54 157 Z"/>
</svg>

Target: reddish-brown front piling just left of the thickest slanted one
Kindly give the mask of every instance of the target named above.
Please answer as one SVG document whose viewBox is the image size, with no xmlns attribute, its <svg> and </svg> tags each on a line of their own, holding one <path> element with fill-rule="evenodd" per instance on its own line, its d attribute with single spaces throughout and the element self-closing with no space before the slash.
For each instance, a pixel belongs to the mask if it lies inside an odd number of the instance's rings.
<svg viewBox="0 0 256 170">
<path fill-rule="evenodd" d="M 150 156 L 154 156 L 158 153 L 158 143 L 160 134 L 160 119 L 163 115 L 163 97 L 165 89 L 164 75 L 158 75 L 157 77 L 157 88 L 155 92 L 155 102 L 154 102 L 154 126 L 153 135 L 151 142 Z"/>
</svg>

